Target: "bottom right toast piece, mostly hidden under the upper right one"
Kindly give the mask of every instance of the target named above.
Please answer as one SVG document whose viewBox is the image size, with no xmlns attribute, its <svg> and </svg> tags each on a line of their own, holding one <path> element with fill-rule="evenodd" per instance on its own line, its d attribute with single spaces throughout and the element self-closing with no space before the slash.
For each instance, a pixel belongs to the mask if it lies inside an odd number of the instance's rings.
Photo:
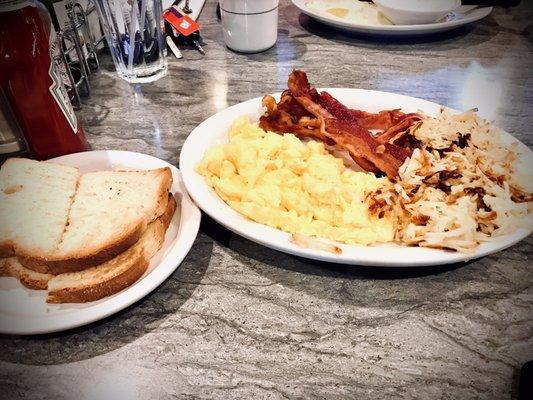
<svg viewBox="0 0 533 400">
<path fill-rule="evenodd" d="M 164 213 L 151 222 L 135 245 L 102 265 L 54 276 L 48 281 L 48 303 L 85 303 L 115 294 L 132 285 L 146 271 L 165 240 L 176 200 L 168 195 Z"/>
</svg>

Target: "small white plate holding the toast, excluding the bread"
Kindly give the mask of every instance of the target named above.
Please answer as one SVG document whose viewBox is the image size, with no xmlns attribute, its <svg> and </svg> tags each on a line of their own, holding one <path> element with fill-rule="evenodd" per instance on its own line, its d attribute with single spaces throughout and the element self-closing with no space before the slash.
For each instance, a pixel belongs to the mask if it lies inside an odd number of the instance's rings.
<svg viewBox="0 0 533 400">
<path fill-rule="evenodd" d="M 113 296 L 82 304 L 47 304 L 46 291 L 27 289 L 15 278 L 0 278 L 0 333 L 33 335 L 62 331 L 100 320 L 128 307 L 157 288 L 178 268 L 200 227 L 200 210 L 187 195 L 180 171 L 163 160 L 129 151 L 89 151 L 50 161 L 77 167 L 81 172 L 169 167 L 174 180 L 171 192 L 178 207 L 163 247 L 152 258 L 144 275 Z"/>
</svg>

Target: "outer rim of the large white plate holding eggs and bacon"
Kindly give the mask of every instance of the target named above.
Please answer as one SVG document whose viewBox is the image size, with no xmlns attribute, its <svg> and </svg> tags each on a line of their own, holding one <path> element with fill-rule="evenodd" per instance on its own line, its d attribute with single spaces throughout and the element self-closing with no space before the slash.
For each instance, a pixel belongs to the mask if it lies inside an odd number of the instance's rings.
<svg viewBox="0 0 533 400">
<path fill-rule="evenodd" d="M 359 89 L 359 88 L 317 88 L 317 90 L 328 91 L 334 96 L 339 96 L 339 93 L 341 93 L 341 92 L 344 92 L 344 95 L 350 95 L 350 94 L 356 93 L 356 92 L 360 93 L 361 95 L 367 95 L 367 96 L 370 95 L 370 94 L 378 94 L 378 95 L 381 95 L 381 96 L 391 96 L 392 95 L 392 96 L 395 97 L 395 99 L 400 99 L 400 100 L 403 99 L 404 101 L 407 101 L 407 100 L 415 101 L 419 105 L 424 104 L 426 107 L 432 107 L 432 108 L 435 108 L 435 109 L 436 108 L 441 108 L 441 107 L 446 107 L 446 106 L 440 105 L 438 103 L 435 103 L 435 102 L 432 102 L 432 101 L 429 101 L 429 100 L 425 100 L 425 99 L 420 99 L 420 98 L 417 98 L 417 97 L 412 97 L 412 96 L 407 96 L 407 95 L 397 94 L 397 93 L 392 93 L 392 92 L 377 91 L 377 90 L 368 90 L 368 89 Z M 280 92 L 274 93 L 274 94 L 271 94 L 271 95 L 276 97 L 276 96 L 280 95 Z M 217 221 L 218 223 L 220 223 L 221 225 L 223 225 L 224 227 L 229 229 L 231 232 L 233 232 L 233 233 L 235 233 L 235 234 L 237 234 L 239 236 L 242 236 L 242 237 L 244 237 L 244 238 L 246 238 L 248 240 L 251 240 L 251 241 L 253 241 L 255 243 L 258 243 L 258 244 L 260 244 L 262 246 L 265 246 L 267 248 L 271 248 L 271 249 L 274 249 L 276 251 L 281 251 L 281 252 L 284 252 L 284 253 L 287 253 L 287 254 L 291 254 L 291 255 L 295 255 L 295 256 L 298 256 L 298 257 L 303 257 L 303 258 L 308 258 L 308 259 L 318 260 L 318 261 L 326 261 L 326 262 L 331 262 L 331 263 L 335 263 L 335 264 L 356 265 L 356 266 L 363 266 L 364 265 L 364 266 L 373 266 L 373 267 L 378 267 L 378 268 L 388 268 L 388 267 L 400 267 L 400 268 L 429 267 L 429 266 L 436 266 L 436 265 L 449 265 L 449 264 L 460 263 L 460 262 L 468 262 L 468 261 L 470 261 L 472 259 L 485 257 L 487 255 L 494 254 L 496 252 L 502 251 L 502 250 L 504 250 L 504 249 L 506 249 L 506 248 L 518 243 L 519 241 L 523 240 L 524 238 L 526 238 L 528 235 L 531 234 L 531 231 L 528 231 L 526 229 L 518 229 L 513 234 L 502 236 L 503 240 L 501 240 L 501 241 L 493 241 L 491 243 L 493 245 L 493 247 L 491 247 L 488 251 L 484 251 L 484 250 L 483 251 L 479 251 L 478 250 L 475 253 L 446 252 L 444 250 L 421 248 L 421 247 L 394 246 L 391 243 L 384 243 L 384 244 L 374 245 L 374 246 L 372 246 L 372 245 L 371 246 L 362 246 L 362 245 L 340 244 L 340 247 L 350 246 L 350 248 L 351 248 L 353 246 L 354 248 L 360 248 L 362 250 L 365 250 L 365 249 L 368 249 L 368 248 L 383 249 L 383 248 L 387 248 L 388 247 L 388 248 L 400 249 L 399 251 L 402 252 L 402 251 L 406 251 L 406 249 L 416 249 L 416 251 L 419 252 L 419 253 L 424 252 L 424 253 L 427 253 L 428 256 L 429 255 L 435 255 L 435 256 L 439 256 L 440 257 L 440 258 L 433 259 L 431 262 L 428 262 L 427 260 L 415 260 L 415 261 L 409 260 L 409 261 L 406 261 L 406 262 L 380 260 L 380 262 L 376 262 L 375 260 L 364 260 L 364 259 L 363 260 L 362 259 L 355 260 L 353 258 L 346 259 L 342 255 L 341 256 L 336 256 L 336 255 L 333 255 L 332 253 L 328 253 L 328 252 L 312 250 L 312 249 L 305 249 L 305 248 L 300 248 L 300 247 L 292 248 L 292 247 L 289 246 L 290 243 L 288 241 L 286 241 L 285 243 L 279 243 L 278 244 L 276 242 L 272 243 L 270 241 L 267 241 L 267 240 L 264 240 L 262 238 L 258 238 L 258 237 L 254 236 L 254 235 L 251 235 L 248 232 L 244 231 L 243 229 L 240 229 L 239 227 L 235 227 L 235 224 L 232 224 L 231 221 L 228 222 L 224 217 L 221 218 L 220 214 L 214 212 L 213 210 L 211 210 L 208 207 L 205 207 L 205 204 L 204 204 L 205 201 L 204 201 L 204 199 L 201 196 L 199 196 L 199 193 L 198 193 L 198 191 L 200 191 L 201 189 L 196 188 L 195 187 L 196 185 L 193 183 L 193 181 L 196 181 L 198 177 L 201 178 L 202 180 L 204 178 L 194 171 L 194 166 L 191 166 L 191 165 L 188 164 L 187 158 L 190 158 L 188 156 L 188 154 L 191 154 L 191 149 L 189 149 L 189 147 L 191 147 L 193 145 L 192 143 L 195 140 L 195 137 L 200 135 L 200 132 L 201 132 L 201 129 L 202 129 L 202 125 L 208 124 L 208 121 L 213 121 L 215 118 L 222 118 L 221 116 L 224 113 L 232 111 L 232 110 L 236 110 L 236 109 L 239 109 L 239 108 L 246 108 L 246 107 L 250 107 L 251 108 L 252 106 L 257 106 L 257 109 L 260 109 L 260 107 L 261 107 L 261 99 L 262 99 L 262 96 L 256 97 L 256 98 L 253 98 L 253 99 L 250 99 L 250 100 L 246 100 L 244 102 L 240 102 L 240 103 L 234 104 L 231 107 L 228 107 L 228 108 L 226 108 L 226 109 L 224 109 L 224 110 L 222 110 L 222 111 L 210 116 L 209 118 L 205 119 L 198 126 L 196 126 L 195 129 L 189 134 L 189 136 L 185 140 L 185 143 L 182 146 L 182 152 L 180 154 L 180 163 L 179 163 L 180 171 L 182 171 L 183 180 L 184 180 L 185 186 L 186 186 L 186 188 L 187 188 L 187 190 L 189 192 L 189 195 L 191 196 L 191 198 L 195 201 L 195 203 L 198 205 L 198 207 L 203 212 L 205 212 L 207 215 L 209 215 L 215 221 Z M 451 110 L 452 112 L 458 112 L 457 110 L 454 110 L 452 108 L 449 108 L 449 107 L 446 107 L 446 108 Z M 246 115 L 246 111 L 243 111 L 242 115 Z M 502 130 L 502 132 L 505 135 L 504 136 L 505 140 L 514 140 L 514 141 L 517 141 L 517 142 L 519 142 L 519 143 L 521 143 L 523 145 L 522 142 L 520 142 L 518 139 L 516 139 L 514 136 L 512 136 L 508 132 L 506 132 L 504 130 Z M 218 137 L 218 135 L 216 135 L 216 137 Z M 212 194 L 214 196 L 218 197 L 218 195 L 213 191 L 212 188 L 210 188 L 205 183 L 205 181 L 203 182 L 203 184 L 205 185 L 205 187 L 209 188 L 210 191 L 212 191 Z M 226 208 L 232 210 L 234 213 L 237 213 L 231 207 L 229 207 L 225 202 L 223 202 L 223 205 Z M 241 217 L 246 219 L 246 223 L 245 224 L 250 223 L 250 224 L 252 224 L 254 226 L 260 225 L 262 228 L 264 228 L 263 230 L 265 230 L 265 233 L 266 233 L 266 231 L 270 231 L 270 232 L 275 232 L 276 234 L 282 233 L 282 234 L 287 235 L 287 236 L 289 235 L 287 232 L 284 232 L 284 231 L 269 227 L 269 226 L 264 225 L 264 224 L 259 224 L 257 222 L 251 221 L 251 220 L 247 219 L 246 217 L 244 217 L 242 215 L 241 215 Z M 336 243 L 336 242 L 335 242 L 335 244 L 338 245 L 338 243 Z M 482 247 L 482 249 L 483 249 L 483 247 Z M 446 254 L 447 256 L 444 257 L 443 254 Z"/>
</svg>

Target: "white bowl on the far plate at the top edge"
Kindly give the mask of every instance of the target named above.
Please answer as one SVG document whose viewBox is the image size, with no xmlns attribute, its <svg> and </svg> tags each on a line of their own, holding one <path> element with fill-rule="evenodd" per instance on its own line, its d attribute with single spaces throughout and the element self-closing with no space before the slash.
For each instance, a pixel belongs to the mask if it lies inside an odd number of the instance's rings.
<svg viewBox="0 0 533 400">
<path fill-rule="evenodd" d="M 461 6 L 461 0 L 372 0 L 396 25 L 431 24 Z"/>
</svg>

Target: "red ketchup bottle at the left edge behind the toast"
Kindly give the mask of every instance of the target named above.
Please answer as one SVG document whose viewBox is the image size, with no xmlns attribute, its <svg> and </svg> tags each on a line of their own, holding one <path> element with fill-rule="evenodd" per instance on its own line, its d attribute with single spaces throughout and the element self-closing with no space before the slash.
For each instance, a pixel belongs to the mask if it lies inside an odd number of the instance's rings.
<svg viewBox="0 0 533 400">
<path fill-rule="evenodd" d="M 53 56 L 48 10 L 35 0 L 0 0 L 0 91 L 39 160 L 87 148 Z"/>
</svg>

